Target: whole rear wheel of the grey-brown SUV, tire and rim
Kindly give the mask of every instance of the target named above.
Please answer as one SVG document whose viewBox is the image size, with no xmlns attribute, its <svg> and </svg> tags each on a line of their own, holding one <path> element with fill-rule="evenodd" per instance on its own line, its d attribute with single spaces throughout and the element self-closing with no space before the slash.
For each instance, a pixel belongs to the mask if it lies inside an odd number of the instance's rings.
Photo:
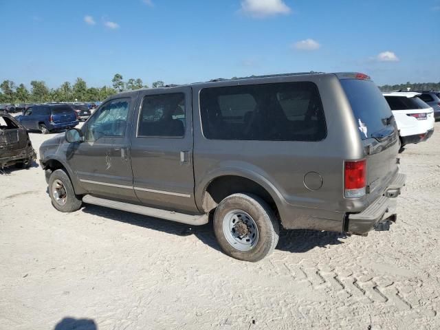
<svg viewBox="0 0 440 330">
<path fill-rule="evenodd" d="M 234 194 L 217 206 L 214 234 L 225 254 L 256 262 L 275 249 L 279 238 L 278 219 L 263 199 Z"/>
</svg>

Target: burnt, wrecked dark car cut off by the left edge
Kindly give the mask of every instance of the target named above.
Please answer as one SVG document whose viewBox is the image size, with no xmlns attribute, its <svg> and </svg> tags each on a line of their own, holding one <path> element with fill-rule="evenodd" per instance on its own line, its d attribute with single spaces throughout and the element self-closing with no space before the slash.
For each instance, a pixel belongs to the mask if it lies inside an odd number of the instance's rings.
<svg viewBox="0 0 440 330">
<path fill-rule="evenodd" d="M 36 159 L 26 129 L 5 111 L 0 111 L 0 168 L 29 168 Z"/>
</svg>

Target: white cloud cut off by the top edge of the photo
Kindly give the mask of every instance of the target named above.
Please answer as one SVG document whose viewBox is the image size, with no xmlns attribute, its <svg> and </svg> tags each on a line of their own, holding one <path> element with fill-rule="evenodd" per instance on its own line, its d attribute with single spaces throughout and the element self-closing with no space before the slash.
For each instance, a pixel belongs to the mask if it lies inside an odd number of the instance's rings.
<svg viewBox="0 0 440 330">
<path fill-rule="evenodd" d="M 243 0 L 241 1 L 241 10 L 256 18 L 278 14 L 287 15 L 292 12 L 283 0 Z"/>
</svg>

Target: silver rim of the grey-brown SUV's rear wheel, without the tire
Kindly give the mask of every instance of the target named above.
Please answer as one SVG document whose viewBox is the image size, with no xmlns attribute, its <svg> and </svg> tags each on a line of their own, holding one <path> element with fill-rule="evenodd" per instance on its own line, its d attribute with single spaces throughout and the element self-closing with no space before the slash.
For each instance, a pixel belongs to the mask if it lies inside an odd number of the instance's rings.
<svg viewBox="0 0 440 330">
<path fill-rule="evenodd" d="M 232 210 L 223 218 L 223 234 L 232 248 L 249 251 L 259 241 L 259 230 L 254 219 L 242 210 Z"/>
</svg>

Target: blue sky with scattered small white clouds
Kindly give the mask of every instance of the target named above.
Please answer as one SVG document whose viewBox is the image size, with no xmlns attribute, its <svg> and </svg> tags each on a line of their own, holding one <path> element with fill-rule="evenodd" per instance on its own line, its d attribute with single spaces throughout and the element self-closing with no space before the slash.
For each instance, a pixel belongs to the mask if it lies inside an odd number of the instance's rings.
<svg viewBox="0 0 440 330">
<path fill-rule="evenodd" d="M 440 0 L 0 0 L 0 80 L 191 83 L 356 71 L 440 81 Z"/>
</svg>

